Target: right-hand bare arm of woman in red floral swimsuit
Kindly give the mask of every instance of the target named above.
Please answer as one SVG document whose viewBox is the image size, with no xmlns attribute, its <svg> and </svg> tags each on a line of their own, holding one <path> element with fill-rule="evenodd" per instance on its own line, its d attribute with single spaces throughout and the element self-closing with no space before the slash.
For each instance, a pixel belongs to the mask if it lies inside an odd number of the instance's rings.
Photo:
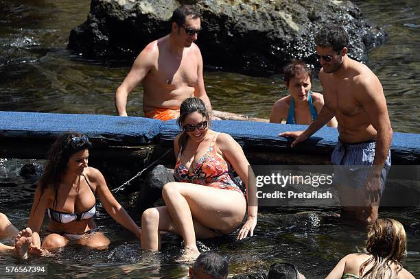
<svg viewBox="0 0 420 279">
<path fill-rule="evenodd" d="M 248 232 L 250 232 L 250 236 L 253 236 L 254 228 L 257 226 L 258 212 L 255 175 L 250 168 L 242 147 L 229 134 L 220 134 L 217 139 L 217 146 L 222 151 L 223 156 L 231 163 L 236 173 L 240 175 L 242 183 L 246 186 L 248 219 L 244 226 L 242 226 L 237 239 L 246 238 Z"/>
</svg>

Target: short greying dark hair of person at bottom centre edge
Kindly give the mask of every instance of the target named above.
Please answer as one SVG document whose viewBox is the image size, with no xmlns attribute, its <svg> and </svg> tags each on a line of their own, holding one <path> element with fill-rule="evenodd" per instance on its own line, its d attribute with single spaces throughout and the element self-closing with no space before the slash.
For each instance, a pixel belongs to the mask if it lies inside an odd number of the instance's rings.
<svg viewBox="0 0 420 279">
<path fill-rule="evenodd" d="M 193 265 L 194 272 L 202 269 L 205 274 L 215 279 L 227 278 L 229 265 L 226 258 L 214 251 L 205 251 L 198 256 Z"/>
</svg>

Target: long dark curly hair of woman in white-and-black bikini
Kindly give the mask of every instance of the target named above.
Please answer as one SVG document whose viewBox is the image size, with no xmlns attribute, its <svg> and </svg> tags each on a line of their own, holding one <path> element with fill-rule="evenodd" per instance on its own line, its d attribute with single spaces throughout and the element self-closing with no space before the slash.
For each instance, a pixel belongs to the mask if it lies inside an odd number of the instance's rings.
<svg viewBox="0 0 420 279">
<path fill-rule="evenodd" d="M 72 138 L 80 137 L 78 132 L 67 132 L 56 138 L 51 145 L 48 153 L 47 165 L 38 184 L 40 184 L 41 195 L 48 187 L 53 187 L 55 191 L 60 187 L 60 182 L 67 169 L 67 163 L 70 157 L 83 149 L 89 149 L 91 143 L 80 141 L 77 145 L 73 143 Z"/>
</svg>

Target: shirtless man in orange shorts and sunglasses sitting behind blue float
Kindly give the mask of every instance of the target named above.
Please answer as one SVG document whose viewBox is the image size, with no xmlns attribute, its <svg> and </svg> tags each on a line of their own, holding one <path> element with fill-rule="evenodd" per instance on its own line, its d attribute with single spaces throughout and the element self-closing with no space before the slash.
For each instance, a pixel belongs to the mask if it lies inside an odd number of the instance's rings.
<svg viewBox="0 0 420 279">
<path fill-rule="evenodd" d="M 211 109 L 200 49 L 194 43 L 201 31 L 201 16 L 191 5 L 182 5 L 174 10 L 171 21 L 170 34 L 141 51 L 117 88 L 115 106 L 120 116 L 127 116 L 127 97 L 139 83 L 143 85 L 145 117 L 175 119 L 182 101 L 191 96 L 202 99 Z"/>
</svg>

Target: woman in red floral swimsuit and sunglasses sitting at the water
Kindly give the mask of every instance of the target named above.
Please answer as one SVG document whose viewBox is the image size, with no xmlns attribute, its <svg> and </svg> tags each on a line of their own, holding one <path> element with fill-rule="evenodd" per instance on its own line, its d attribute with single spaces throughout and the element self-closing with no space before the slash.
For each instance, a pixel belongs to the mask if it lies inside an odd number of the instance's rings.
<svg viewBox="0 0 420 279">
<path fill-rule="evenodd" d="M 248 185 L 244 151 L 229 134 L 209 129 L 209 112 L 201 99 L 185 99 L 180 106 L 178 124 L 183 130 L 174 140 L 177 155 L 174 176 L 177 182 L 165 184 L 162 191 L 166 206 L 149 208 L 141 217 L 141 247 L 160 250 L 159 231 L 183 237 L 186 258 L 200 252 L 196 237 L 212 238 L 235 231 L 248 219 L 237 238 L 253 235 L 257 225 L 255 185 Z M 246 198 L 233 182 L 233 169 L 246 186 Z"/>
</svg>

